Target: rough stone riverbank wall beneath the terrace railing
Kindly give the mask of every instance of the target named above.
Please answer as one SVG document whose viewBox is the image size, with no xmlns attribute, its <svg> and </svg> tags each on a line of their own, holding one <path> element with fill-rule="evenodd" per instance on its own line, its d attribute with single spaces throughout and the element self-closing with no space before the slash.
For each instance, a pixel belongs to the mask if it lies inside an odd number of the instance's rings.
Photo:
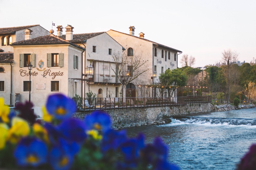
<svg viewBox="0 0 256 170">
<path fill-rule="evenodd" d="M 200 112 L 210 112 L 210 103 L 193 103 L 179 106 L 161 106 L 131 108 L 119 110 L 107 110 L 112 119 L 112 128 L 122 129 L 131 126 L 141 126 L 149 124 L 163 123 L 163 115 L 171 117 L 174 115 L 193 114 Z M 74 117 L 83 119 L 83 113 L 75 113 Z"/>
</svg>

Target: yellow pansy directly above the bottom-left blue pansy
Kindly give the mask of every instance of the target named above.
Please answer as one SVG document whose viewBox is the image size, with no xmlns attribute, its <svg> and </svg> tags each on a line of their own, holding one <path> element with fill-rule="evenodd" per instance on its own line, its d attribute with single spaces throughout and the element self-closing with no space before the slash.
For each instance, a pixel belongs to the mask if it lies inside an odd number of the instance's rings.
<svg viewBox="0 0 256 170">
<path fill-rule="evenodd" d="M 11 121 L 11 128 L 8 131 L 7 140 L 17 143 L 21 137 L 29 134 L 30 128 L 27 121 L 22 118 L 14 117 Z"/>
</svg>

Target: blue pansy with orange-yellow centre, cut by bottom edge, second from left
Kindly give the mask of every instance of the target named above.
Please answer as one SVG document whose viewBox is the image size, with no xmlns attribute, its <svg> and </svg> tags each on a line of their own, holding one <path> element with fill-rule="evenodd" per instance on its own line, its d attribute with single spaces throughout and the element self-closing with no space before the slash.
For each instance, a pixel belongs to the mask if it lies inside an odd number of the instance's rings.
<svg viewBox="0 0 256 170">
<path fill-rule="evenodd" d="M 74 156 L 78 148 L 74 145 L 66 143 L 65 140 L 60 140 L 59 145 L 54 145 L 50 151 L 50 164 L 54 170 L 69 169 L 74 161 Z"/>
</svg>

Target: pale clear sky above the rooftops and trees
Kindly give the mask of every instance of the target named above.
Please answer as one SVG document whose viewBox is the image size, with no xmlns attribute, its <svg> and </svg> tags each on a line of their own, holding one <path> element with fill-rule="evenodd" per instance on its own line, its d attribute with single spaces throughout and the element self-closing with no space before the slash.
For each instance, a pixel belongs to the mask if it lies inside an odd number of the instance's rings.
<svg viewBox="0 0 256 170">
<path fill-rule="evenodd" d="M 205 66 L 229 48 L 241 62 L 256 59 L 255 9 L 255 0 L 0 0 L 0 28 L 40 24 L 50 30 L 53 22 L 57 35 L 57 25 L 72 25 L 74 34 L 129 33 L 132 25 L 135 36 L 143 32 L 145 39 L 181 50 L 178 59 L 192 55 L 194 66 Z"/>
</svg>

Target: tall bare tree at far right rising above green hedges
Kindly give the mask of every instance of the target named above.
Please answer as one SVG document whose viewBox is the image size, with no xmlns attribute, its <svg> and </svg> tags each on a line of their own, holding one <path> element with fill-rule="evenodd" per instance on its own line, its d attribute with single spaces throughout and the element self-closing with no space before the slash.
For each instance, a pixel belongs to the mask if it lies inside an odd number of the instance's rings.
<svg viewBox="0 0 256 170">
<path fill-rule="evenodd" d="M 235 71 L 234 69 L 231 68 L 231 65 L 238 60 L 238 55 L 239 54 L 236 51 L 232 51 L 231 49 L 223 50 L 222 52 L 221 62 L 226 63 L 226 65 L 223 67 L 223 73 L 227 83 L 227 87 L 226 87 L 227 101 L 228 101 L 227 104 L 229 103 L 229 99 L 230 99 L 230 90 L 231 90 L 231 85 L 232 85 L 232 81 L 234 78 L 234 71 Z"/>
</svg>

